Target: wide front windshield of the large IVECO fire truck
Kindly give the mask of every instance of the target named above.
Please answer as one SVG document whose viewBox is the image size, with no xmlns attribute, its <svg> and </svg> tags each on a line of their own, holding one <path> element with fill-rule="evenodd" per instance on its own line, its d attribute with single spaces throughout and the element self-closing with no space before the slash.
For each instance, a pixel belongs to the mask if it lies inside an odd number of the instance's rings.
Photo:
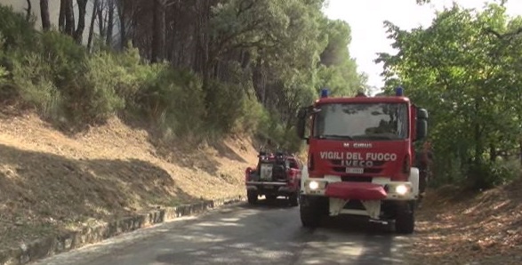
<svg viewBox="0 0 522 265">
<path fill-rule="evenodd" d="M 319 107 L 313 137 L 333 140 L 400 140 L 408 137 L 406 103 L 334 103 Z"/>
</svg>

